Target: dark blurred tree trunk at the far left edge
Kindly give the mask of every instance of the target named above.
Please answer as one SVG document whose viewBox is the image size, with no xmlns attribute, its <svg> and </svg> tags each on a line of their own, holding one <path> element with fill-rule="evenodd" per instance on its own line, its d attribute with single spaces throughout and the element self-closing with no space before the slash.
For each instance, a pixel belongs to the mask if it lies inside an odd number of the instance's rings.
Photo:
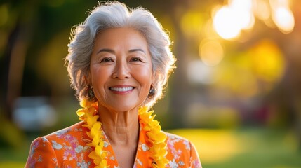
<svg viewBox="0 0 301 168">
<path fill-rule="evenodd" d="M 25 2 L 1 4 L 1 8 L 6 8 L 8 12 L 6 22 L 1 25 L 1 33 L 6 34 L 7 37 L 7 39 L 2 39 L 7 43 L 1 46 L 1 50 L 4 50 L 2 52 L 4 56 L 1 57 L 3 65 L 1 67 L 4 69 L 1 74 L 1 78 L 4 79 L 1 82 L 3 86 L 1 87 L 3 89 L 1 106 L 4 107 L 8 118 L 11 118 L 14 99 L 21 96 L 23 69 L 28 45 L 32 38 L 35 7 Z"/>
</svg>

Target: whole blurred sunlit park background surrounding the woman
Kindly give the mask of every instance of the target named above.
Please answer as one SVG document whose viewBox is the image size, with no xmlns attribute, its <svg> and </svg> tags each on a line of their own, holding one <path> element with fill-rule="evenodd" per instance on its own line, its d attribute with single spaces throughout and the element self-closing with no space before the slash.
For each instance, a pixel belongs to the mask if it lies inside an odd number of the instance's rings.
<svg viewBox="0 0 301 168">
<path fill-rule="evenodd" d="M 301 167 L 301 1 L 121 1 L 170 32 L 177 68 L 154 110 L 203 167 Z M 78 122 L 64 58 L 98 1 L 0 1 L 0 167 Z"/>
</svg>

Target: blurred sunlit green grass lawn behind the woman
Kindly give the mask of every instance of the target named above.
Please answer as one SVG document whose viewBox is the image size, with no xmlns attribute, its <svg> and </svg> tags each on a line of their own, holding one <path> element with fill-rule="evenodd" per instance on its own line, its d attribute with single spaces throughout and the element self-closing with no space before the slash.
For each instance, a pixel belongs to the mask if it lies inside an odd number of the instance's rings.
<svg viewBox="0 0 301 168">
<path fill-rule="evenodd" d="M 191 140 L 204 168 L 301 167 L 297 139 L 288 130 L 248 128 L 239 130 L 168 130 Z M 1 148 L 0 168 L 24 167 L 30 142 L 18 149 Z"/>
</svg>

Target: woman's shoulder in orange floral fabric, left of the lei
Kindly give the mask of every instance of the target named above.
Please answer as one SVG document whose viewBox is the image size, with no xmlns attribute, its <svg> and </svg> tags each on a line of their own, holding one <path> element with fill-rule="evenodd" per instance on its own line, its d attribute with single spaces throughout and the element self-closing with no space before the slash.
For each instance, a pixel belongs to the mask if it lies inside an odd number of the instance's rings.
<svg viewBox="0 0 301 168">
<path fill-rule="evenodd" d="M 86 127 L 79 122 L 62 130 L 58 130 L 32 141 L 27 159 L 27 167 L 79 167 L 88 165 L 88 153 L 91 148 L 87 146 Z M 88 167 L 88 166 L 86 166 Z"/>
</svg>

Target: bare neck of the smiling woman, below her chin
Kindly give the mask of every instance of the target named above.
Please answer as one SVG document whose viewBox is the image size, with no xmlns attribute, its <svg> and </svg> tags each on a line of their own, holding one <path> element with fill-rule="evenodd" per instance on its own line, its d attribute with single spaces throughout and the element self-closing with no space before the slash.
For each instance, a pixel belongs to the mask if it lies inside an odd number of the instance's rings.
<svg viewBox="0 0 301 168">
<path fill-rule="evenodd" d="M 112 111 L 98 107 L 102 130 L 112 146 L 133 146 L 138 144 L 138 108 L 131 111 Z"/>
</svg>

